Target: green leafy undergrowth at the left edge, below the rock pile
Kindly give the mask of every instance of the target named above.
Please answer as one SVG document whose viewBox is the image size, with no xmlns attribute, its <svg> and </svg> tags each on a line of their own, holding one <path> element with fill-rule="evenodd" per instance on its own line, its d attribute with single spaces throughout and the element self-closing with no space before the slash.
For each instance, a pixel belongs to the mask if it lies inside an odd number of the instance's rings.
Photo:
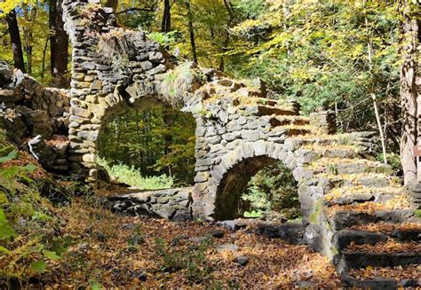
<svg viewBox="0 0 421 290">
<path fill-rule="evenodd" d="M 52 203 L 40 193 L 51 181 L 32 177 L 36 165 L 20 165 L 19 157 L 16 148 L 0 142 L 0 282 L 44 272 L 66 248 L 55 234 L 60 221 Z"/>
</svg>

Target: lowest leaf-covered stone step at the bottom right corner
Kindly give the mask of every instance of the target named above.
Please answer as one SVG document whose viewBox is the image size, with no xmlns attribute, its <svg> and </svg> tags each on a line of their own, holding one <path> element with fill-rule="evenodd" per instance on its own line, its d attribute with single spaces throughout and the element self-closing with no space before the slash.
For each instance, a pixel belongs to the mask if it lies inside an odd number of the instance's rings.
<svg viewBox="0 0 421 290">
<path fill-rule="evenodd" d="M 377 267 L 372 270 L 344 271 L 341 279 L 346 288 L 394 290 L 421 286 L 421 279 L 416 276 L 419 270 L 419 267 L 414 265 L 396 267 L 396 270 Z M 368 274 L 369 277 L 363 277 Z"/>
</svg>

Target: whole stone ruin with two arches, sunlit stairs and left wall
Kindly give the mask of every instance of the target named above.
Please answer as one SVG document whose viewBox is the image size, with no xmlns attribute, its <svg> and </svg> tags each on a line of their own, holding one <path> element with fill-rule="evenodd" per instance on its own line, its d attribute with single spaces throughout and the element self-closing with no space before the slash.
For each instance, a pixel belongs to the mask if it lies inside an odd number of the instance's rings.
<svg viewBox="0 0 421 290">
<path fill-rule="evenodd" d="M 52 169 L 94 181 L 97 141 L 115 114 L 166 102 L 195 117 L 195 185 L 115 196 L 115 209 L 174 221 L 232 219 L 250 177 L 282 161 L 298 181 L 306 244 L 344 273 L 353 268 L 354 253 L 346 247 L 365 240 L 351 227 L 417 220 L 408 192 L 373 157 L 376 134 L 334 134 L 332 114 L 301 116 L 297 103 L 268 98 L 263 82 L 179 64 L 144 31 L 117 27 L 113 10 L 99 0 L 65 0 L 63 11 L 73 47 L 71 90 L 44 89 L 28 75 L 0 90 L 0 102 L 7 99 L 21 112 L 12 139 L 67 131 L 64 152 L 47 146 L 58 156 L 49 161 Z M 407 258 L 420 262 L 419 253 Z"/>
</svg>

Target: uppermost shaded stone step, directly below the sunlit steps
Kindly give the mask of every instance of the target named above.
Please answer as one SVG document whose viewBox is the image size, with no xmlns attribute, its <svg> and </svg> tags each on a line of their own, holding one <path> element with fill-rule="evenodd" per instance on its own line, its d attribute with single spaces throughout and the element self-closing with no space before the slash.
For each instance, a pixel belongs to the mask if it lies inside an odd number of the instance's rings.
<svg viewBox="0 0 421 290">
<path fill-rule="evenodd" d="M 410 208 L 385 209 L 375 211 L 337 210 L 330 217 L 330 224 L 335 231 L 368 223 L 405 223 L 415 219 L 414 211 Z"/>
</svg>

